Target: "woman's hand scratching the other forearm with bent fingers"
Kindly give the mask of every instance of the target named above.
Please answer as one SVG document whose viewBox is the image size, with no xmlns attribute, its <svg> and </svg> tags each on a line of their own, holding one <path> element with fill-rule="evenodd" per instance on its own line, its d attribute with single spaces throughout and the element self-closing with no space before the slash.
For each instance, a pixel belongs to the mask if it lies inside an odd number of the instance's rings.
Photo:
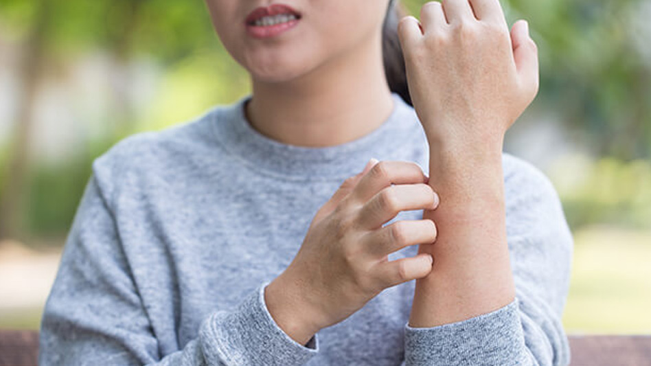
<svg viewBox="0 0 651 366">
<path fill-rule="evenodd" d="M 432 220 L 382 227 L 400 211 L 435 209 L 438 197 L 415 163 L 369 162 L 317 212 L 293 262 L 265 291 L 278 325 L 306 343 L 385 288 L 428 275 L 429 254 L 389 261 L 404 247 L 435 241 Z"/>
</svg>

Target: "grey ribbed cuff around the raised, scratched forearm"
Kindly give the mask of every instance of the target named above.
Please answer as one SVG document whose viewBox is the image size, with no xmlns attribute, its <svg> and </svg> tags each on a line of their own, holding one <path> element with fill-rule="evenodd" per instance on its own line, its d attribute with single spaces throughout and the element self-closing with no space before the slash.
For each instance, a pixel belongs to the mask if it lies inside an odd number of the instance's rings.
<svg viewBox="0 0 651 366">
<path fill-rule="evenodd" d="M 514 300 L 494 312 L 433 328 L 404 327 L 406 366 L 525 365 L 524 334 Z"/>
</svg>

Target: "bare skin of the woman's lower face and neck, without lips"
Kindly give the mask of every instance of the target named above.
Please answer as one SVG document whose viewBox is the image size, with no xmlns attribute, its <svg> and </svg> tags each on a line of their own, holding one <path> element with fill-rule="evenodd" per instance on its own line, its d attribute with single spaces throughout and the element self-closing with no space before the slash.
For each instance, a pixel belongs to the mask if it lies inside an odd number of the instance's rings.
<svg viewBox="0 0 651 366">
<path fill-rule="evenodd" d="M 260 40 L 247 36 L 244 19 L 271 1 L 206 0 L 222 44 L 251 76 L 251 125 L 285 144 L 310 147 L 342 144 L 378 128 L 393 108 L 382 65 L 389 1 L 274 2 L 302 19 L 293 30 Z"/>
</svg>

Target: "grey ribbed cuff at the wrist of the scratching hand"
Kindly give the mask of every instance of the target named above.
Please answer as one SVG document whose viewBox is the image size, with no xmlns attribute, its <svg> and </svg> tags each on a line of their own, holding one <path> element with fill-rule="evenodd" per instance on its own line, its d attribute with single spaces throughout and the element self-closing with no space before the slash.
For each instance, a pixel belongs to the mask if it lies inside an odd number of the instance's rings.
<svg viewBox="0 0 651 366">
<path fill-rule="evenodd" d="M 264 303 L 264 282 L 233 312 L 215 312 L 201 325 L 204 356 L 227 365 L 304 365 L 319 352 L 317 334 L 307 345 L 288 336 Z"/>
</svg>

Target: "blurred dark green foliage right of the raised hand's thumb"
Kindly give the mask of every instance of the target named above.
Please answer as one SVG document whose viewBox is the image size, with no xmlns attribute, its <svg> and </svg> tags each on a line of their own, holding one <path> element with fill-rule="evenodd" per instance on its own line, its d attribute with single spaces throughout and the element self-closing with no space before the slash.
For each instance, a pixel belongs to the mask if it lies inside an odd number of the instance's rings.
<svg viewBox="0 0 651 366">
<path fill-rule="evenodd" d="M 513 19 L 529 19 L 539 44 L 537 103 L 561 111 L 596 155 L 651 157 L 651 62 L 631 26 L 643 1 L 508 3 Z"/>
</svg>

